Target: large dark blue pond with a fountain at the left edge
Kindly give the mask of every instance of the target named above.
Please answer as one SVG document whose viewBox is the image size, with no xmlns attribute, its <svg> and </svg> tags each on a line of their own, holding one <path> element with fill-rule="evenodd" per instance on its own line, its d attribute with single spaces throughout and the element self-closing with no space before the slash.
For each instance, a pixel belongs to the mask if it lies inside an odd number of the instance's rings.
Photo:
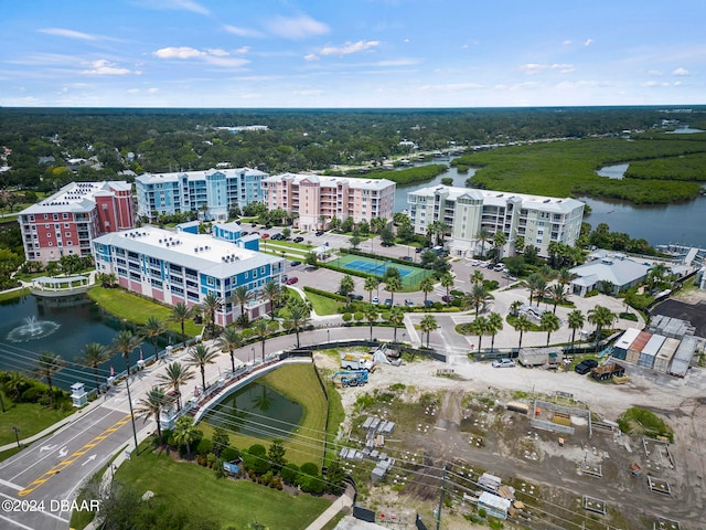
<svg viewBox="0 0 706 530">
<path fill-rule="evenodd" d="M 104 311 L 86 295 L 65 298 L 41 298 L 26 295 L 0 303 L 0 370 L 32 372 L 35 361 L 43 351 L 57 353 L 66 361 L 66 367 L 52 378 L 52 383 L 67 390 L 75 382 L 83 382 L 86 389 L 95 388 L 93 370 L 78 364 L 82 350 L 90 342 L 110 346 L 122 329 L 136 331 L 133 326 Z M 167 346 L 170 339 L 158 343 Z M 175 340 L 175 339 L 174 339 Z M 154 347 L 145 342 L 143 358 L 154 353 Z M 130 356 L 130 363 L 137 363 L 140 348 Z M 120 353 L 98 368 L 101 382 L 125 370 Z"/>
</svg>

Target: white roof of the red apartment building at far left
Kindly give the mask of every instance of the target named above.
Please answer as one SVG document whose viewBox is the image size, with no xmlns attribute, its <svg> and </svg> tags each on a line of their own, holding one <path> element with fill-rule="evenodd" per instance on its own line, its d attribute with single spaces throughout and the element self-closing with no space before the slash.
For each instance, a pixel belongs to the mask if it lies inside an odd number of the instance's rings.
<svg viewBox="0 0 706 530">
<path fill-rule="evenodd" d="M 72 182 L 53 195 L 22 210 L 20 214 L 41 214 L 60 212 L 87 212 L 96 204 L 96 195 L 111 194 L 114 191 L 130 191 L 131 184 L 125 180 L 105 182 Z"/>
</svg>

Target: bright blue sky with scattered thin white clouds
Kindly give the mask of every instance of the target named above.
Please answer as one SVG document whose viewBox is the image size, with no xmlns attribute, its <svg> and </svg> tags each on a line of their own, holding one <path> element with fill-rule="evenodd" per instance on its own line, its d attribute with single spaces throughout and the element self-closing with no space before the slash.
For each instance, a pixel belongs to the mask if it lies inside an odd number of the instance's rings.
<svg viewBox="0 0 706 530">
<path fill-rule="evenodd" d="M 706 1 L 8 0 L 0 105 L 706 103 Z"/>
</svg>

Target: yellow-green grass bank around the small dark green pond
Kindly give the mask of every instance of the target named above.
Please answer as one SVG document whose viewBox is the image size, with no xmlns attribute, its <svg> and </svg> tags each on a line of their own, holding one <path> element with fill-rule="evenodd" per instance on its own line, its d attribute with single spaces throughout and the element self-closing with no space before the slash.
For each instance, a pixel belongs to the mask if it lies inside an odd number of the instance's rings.
<svg viewBox="0 0 706 530">
<path fill-rule="evenodd" d="M 285 439 L 286 458 L 297 465 L 313 462 L 321 465 L 323 456 L 323 433 L 327 418 L 327 401 L 323 391 L 314 373 L 312 364 L 287 364 L 257 380 L 258 383 L 269 386 L 285 398 L 296 401 L 303 409 L 303 416 L 299 426 L 292 431 L 292 435 Z M 339 407 L 340 407 L 340 401 Z M 336 416 L 338 417 L 338 416 Z M 213 427 L 206 422 L 199 424 L 205 437 L 211 437 Z M 238 448 L 247 448 L 253 444 L 269 446 L 271 439 L 260 439 L 253 436 L 244 436 L 237 433 L 228 433 L 231 445 Z"/>
</svg>

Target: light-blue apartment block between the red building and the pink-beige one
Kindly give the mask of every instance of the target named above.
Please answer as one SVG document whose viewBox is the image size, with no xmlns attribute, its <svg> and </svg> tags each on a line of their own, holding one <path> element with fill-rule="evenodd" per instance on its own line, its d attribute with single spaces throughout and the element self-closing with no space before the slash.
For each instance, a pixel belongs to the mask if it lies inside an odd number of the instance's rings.
<svg viewBox="0 0 706 530">
<path fill-rule="evenodd" d="M 137 213 L 154 220 L 160 214 L 195 212 L 205 221 L 226 221 L 228 210 L 263 202 L 257 169 L 210 169 L 174 173 L 145 173 L 135 179 Z"/>
</svg>

